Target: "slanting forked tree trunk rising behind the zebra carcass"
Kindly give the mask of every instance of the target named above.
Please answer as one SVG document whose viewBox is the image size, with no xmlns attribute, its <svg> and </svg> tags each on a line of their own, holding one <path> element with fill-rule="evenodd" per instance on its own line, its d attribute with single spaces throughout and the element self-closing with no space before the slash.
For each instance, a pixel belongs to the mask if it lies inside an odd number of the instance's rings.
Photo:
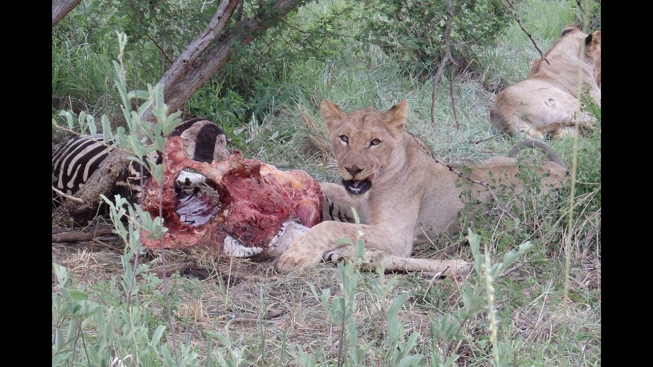
<svg viewBox="0 0 653 367">
<path fill-rule="evenodd" d="M 224 33 L 240 0 L 223 0 L 208 27 L 200 33 L 180 54 L 159 81 L 164 85 L 163 96 L 168 113 L 178 110 L 197 89 L 206 83 L 221 65 L 227 61 L 234 47 L 248 44 L 262 31 L 274 25 L 276 20 L 306 3 L 306 0 L 276 0 L 272 7 L 260 5 L 257 14 L 246 18 Z M 142 121 L 155 118 L 151 109 L 141 116 Z"/>
</svg>

